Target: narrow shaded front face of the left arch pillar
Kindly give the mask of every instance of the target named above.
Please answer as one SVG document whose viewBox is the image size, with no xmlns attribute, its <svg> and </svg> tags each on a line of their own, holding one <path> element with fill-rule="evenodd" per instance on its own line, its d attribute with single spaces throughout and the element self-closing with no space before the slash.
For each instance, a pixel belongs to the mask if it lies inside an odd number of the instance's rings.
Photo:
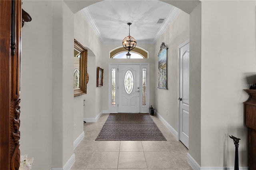
<svg viewBox="0 0 256 170">
<path fill-rule="evenodd" d="M 62 6 L 61 2 L 52 2 L 52 167 L 62 165 L 62 156 L 58 156 L 62 150 L 63 142 L 63 30 L 62 30 Z"/>
</svg>

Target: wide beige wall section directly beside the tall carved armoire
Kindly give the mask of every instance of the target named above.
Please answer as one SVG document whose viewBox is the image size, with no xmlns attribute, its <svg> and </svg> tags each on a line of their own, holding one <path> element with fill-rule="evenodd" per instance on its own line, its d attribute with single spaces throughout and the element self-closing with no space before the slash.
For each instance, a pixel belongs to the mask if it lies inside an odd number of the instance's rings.
<svg viewBox="0 0 256 170">
<path fill-rule="evenodd" d="M 52 163 L 52 2 L 23 1 L 22 8 L 32 21 L 22 28 L 20 154 L 45 170 Z"/>
</svg>

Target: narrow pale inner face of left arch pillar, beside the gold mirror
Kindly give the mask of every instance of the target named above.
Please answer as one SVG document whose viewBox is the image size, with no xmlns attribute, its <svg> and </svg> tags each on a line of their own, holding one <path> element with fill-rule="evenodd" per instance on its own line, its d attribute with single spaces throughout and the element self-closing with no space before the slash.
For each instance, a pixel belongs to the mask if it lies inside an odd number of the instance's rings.
<svg viewBox="0 0 256 170">
<path fill-rule="evenodd" d="M 74 153 L 73 144 L 73 119 L 74 115 L 74 14 L 68 6 L 62 2 L 62 15 L 63 15 L 63 158 L 62 166 L 66 164 L 68 159 Z M 71 33 L 71 34 L 70 34 Z M 72 57 L 71 57 L 72 56 Z M 57 95 L 57 94 L 56 94 Z"/>
</svg>

